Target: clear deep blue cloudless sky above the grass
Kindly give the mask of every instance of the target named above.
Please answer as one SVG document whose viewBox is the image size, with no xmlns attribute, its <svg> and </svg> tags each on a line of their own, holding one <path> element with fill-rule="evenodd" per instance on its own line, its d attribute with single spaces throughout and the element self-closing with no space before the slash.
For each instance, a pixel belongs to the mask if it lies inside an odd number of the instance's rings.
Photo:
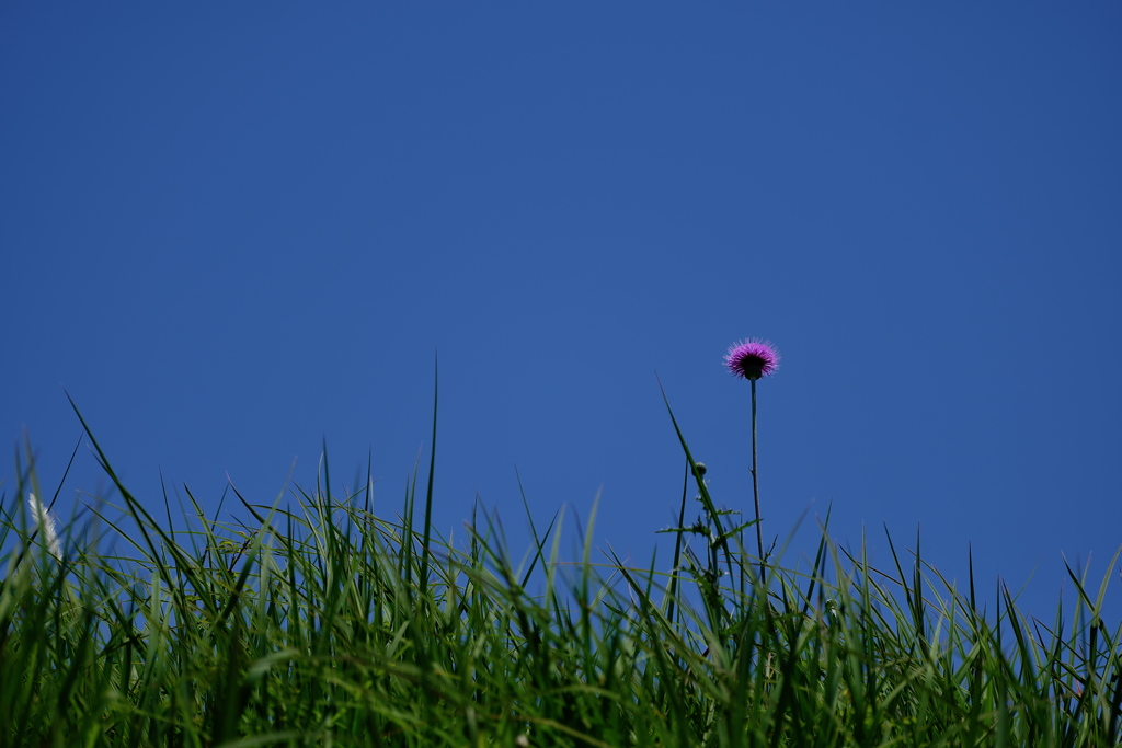
<svg viewBox="0 0 1122 748">
<path fill-rule="evenodd" d="M 4 3 L 0 435 L 56 486 L 65 389 L 154 510 L 272 504 L 325 438 L 393 515 L 439 354 L 438 528 L 478 495 L 522 546 L 517 469 L 646 563 L 656 373 L 749 510 L 721 358 L 761 336 L 789 561 L 833 505 L 1047 618 L 1122 544 L 1120 38 L 1118 2 Z"/>
</svg>

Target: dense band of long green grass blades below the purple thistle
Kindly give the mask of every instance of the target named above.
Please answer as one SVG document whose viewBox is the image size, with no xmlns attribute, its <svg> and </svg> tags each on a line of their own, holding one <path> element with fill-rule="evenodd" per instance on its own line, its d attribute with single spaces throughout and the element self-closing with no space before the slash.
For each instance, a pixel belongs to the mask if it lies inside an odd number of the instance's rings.
<svg viewBox="0 0 1122 748">
<path fill-rule="evenodd" d="M 765 587 L 693 478 L 702 521 L 646 567 L 587 541 L 562 561 L 563 514 L 530 519 L 527 553 L 486 519 L 450 543 L 421 470 L 387 518 L 369 482 L 329 493 L 325 460 L 294 505 L 242 499 L 223 524 L 188 495 L 173 529 L 95 449 L 119 506 L 63 532 L 61 557 L 26 508 L 34 470 L 3 498 L 0 746 L 1119 742 L 1105 579 L 1072 573 L 1075 609 L 1047 622 L 999 587 L 986 617 L 973 574 L 955 589 L 918 538 L 874 570 L 824 528 L 812 565 L 772 563 Z"/>
</svg>

